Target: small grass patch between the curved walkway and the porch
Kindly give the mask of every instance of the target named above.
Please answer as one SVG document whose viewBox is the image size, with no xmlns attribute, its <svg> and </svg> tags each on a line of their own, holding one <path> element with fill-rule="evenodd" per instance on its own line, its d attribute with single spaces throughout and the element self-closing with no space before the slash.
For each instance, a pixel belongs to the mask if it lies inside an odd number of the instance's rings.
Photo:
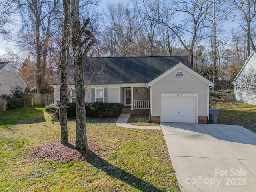
<svg viewBox="0 0 256 192">
<path fill-rule="evenodd" d="M 158 123 L 149 123 L 148 114 L 131 114 L 127 123 L 139 126 L 160 126 Z"/>
</svg>

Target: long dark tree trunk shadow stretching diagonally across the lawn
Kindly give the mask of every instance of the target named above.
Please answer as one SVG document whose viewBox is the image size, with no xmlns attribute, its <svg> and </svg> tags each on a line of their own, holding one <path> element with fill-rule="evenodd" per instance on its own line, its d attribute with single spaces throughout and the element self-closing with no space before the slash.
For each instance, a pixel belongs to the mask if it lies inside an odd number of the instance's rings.
<svg viewBox="0 0 256 192">
<path fill-rule="evenodd" d="M 72 144 L 67 144 L 66 146 L 75 149 L 75 146 Z M 138 178 L 130 174 L 129 172 L 110 164 L 106 160 L 100 158 L 90 149 L 88 149 L 86 152 L 80 150 L 77 151 L 81 154 L 81 158 L 83 157 L 88 163 L 90 163 L 94 167 L 106 172 L 108 175 L 114 178 L 126 182 L 127 184 L 137 188 L 138 190 L 145 192 L 163 192 L 163 190 L 156 188 L 155 186 L 142 180 L 141 178 Z"/>
</svg>

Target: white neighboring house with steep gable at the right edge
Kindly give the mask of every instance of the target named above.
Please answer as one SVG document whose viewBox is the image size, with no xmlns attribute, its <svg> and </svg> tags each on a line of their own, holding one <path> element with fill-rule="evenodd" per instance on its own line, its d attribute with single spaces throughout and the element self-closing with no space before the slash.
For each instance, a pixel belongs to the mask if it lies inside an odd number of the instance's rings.
<svg viewBox="0 0 256 192">
<path fill-rule="evenodd" d="M 236 101 L 256 104 L 256 52 L 252 51 L 233 81 Z"/>
</svg>

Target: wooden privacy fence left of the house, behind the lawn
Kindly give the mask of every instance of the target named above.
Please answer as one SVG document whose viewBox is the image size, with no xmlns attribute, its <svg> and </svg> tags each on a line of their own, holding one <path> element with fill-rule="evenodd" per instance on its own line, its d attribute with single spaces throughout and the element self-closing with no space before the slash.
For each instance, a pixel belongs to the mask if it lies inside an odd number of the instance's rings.
<svg viewBox="0 0 256 192">
<path fill-rule="evenodd" d="M 32 106 L 46 106 L 54 103 L 53 94 L 30 93 L 30 104 Z"/>
</svg>

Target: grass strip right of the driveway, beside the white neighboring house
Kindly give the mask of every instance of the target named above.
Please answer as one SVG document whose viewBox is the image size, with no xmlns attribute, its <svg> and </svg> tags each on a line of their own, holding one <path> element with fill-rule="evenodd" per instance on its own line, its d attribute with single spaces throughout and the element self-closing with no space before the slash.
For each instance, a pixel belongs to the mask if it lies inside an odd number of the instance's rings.
<svg viewBox="0 0 256 192">
<path fill-rule="evenodd" d="M 256 105 L 216 101 L 211 102 L 210 106 L 220 109 L 218 124 L 241 125 L 256 133 Z"/>
</svg>

